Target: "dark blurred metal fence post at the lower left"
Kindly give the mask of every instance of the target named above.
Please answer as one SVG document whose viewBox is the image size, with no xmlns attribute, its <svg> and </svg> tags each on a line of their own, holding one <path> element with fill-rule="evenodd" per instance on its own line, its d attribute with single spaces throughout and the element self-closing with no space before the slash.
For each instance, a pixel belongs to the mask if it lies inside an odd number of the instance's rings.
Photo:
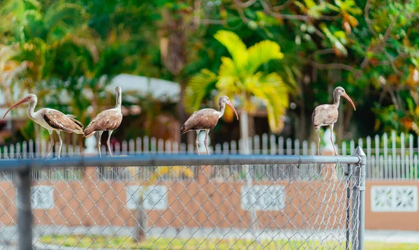
<svg viewBox="0 0 419 250">
<path fill-rule="evenodd" d="M 30 170 L 17 171 L 17 232 L 19 249 L 32 249 L 32 209 Z"/>
</svg>

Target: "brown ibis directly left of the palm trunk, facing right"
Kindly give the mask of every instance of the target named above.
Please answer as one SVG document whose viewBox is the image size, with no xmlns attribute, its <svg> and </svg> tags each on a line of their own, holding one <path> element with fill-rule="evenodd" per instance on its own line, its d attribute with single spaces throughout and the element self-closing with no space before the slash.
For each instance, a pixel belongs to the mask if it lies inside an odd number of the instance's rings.
<svg viewBox="0 0 419 250">
<path fill-rule="evenodd" d="M 230 103 L 230 99 L 227 96 L 220 96 L 219 98 L 219 107 L 220 110 L 214 110 L 212 108 L 204 108 L 202 110 L 198 110 L 193 112 L 191 117 L 186 120 L 183 124 L 182 128 L 180 129 L 180 134 L 183 135 L 184 133 L 194 130 L 196 131 L 196 151 L 199 154 L 198 149 L 198 135 L 201 130 L 205 130 L 205 149 L 207 150 L 207 154 L 210 154 L 207 147 L 207 137 L 210 130 L 214 128 L 214 126 L 218 123 L 219 119 L 224 115 L 224 109 L 226 108 L 226 104 L 230 106 L 235 112 L 237 119 L 239 119 L 239 115 L 237 115 L 237 111 L 233 107 L 233 104 Z"/>
</svg>

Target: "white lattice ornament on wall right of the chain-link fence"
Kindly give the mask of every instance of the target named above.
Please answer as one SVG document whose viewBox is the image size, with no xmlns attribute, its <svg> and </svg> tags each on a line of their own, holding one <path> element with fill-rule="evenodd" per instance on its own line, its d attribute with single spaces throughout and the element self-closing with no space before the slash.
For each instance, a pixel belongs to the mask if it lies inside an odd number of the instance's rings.
<svg viewBox="0 0 419 250">
<path fill-rule="evenodd" d="M 372 186 L 372 212 L 418 211 L 418 186 Z"/>
</svg>

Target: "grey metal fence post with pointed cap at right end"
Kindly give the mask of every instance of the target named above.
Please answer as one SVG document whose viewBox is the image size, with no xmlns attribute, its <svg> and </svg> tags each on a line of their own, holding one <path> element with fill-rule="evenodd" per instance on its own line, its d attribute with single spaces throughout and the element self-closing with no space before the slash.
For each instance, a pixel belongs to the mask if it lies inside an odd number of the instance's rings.
<svg viewBox="0 0 419 250">
<path fill-rule="evenodd" d="M 355 239 L 358 242 L 353 241 L 352 244 L 355 244 L 358 250 L 364 250 L 364 237 L 365 237 L 365 166 L 367 164 L 367 156 L 365 152 L 362 151 L 361 147 L 358 146 L 353 152 L 353 156 L 360 157 L 359 167 L 355 168 L 353 172 L 353 187 L 355 192 L 353 193 L 353 205 L 354 212 L 358 216 L 353 216 L 354 219 L 358 219 L 353 223 L 353 226 L 356 227 L 356 236 Z M 358 243 L 358 244 L 356 244 Z"/>
</svg>

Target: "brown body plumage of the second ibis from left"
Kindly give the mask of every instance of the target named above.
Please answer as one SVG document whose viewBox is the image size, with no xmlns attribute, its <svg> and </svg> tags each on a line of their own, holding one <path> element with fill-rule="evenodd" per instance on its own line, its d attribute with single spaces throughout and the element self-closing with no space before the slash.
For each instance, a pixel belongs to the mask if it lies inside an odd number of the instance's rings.
<svg viewBox="0 0 419 250">
<path fill-rule="evenodd" d="M 112 109 L 104 110 L 87 125 L 84 129 L 84 137 L 94 135 L 95 131 L 110 131 L 119 127 L 122 122 L 122 113 Z"/>
</svg>

